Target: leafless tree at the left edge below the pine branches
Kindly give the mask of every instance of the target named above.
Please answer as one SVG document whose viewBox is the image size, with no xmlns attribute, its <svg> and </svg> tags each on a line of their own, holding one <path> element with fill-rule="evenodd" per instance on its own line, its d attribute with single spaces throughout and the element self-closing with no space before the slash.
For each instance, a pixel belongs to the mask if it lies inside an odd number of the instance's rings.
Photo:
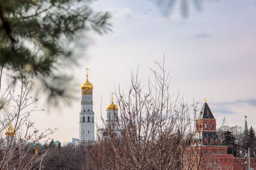
<svg viewBox="0 0 256 170">
<path fill-rule="evenodd" d="M 29 96 L 31 88 L 32 82 L 22 76 L 20 81 L 12 81 L 1 95 L 0 169 L 34 169 L 49 153 L 48 149 L 35 148 L 36 143 L 47 139 L 53 131 L 39 132 L 29 120 L 38 100 Z"/>
</svg>

